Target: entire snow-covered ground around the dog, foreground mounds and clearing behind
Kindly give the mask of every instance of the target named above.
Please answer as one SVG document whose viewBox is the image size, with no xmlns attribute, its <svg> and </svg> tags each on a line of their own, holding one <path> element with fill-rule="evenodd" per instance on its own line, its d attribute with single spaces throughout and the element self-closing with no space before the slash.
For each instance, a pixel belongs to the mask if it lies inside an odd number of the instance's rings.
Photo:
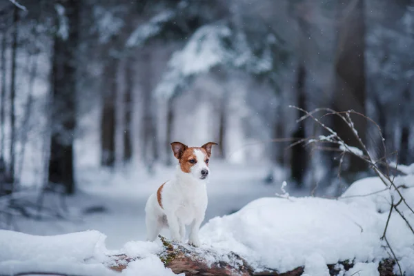
<svg viewBox="0 0 414 276">
<path fill-rule="evenodd" d="M 400 198 L 395 191 L 384 190 L 377 177 L 356 181 L 337 200 L 275 197 L 281 193 L 279 185 L 262 183 L 268 169 L 265 166 L 241 168 L 216 163 L 212 167 L 215 174 L 208 191 L 208 222 L 200 230 L 201 248 L 218 253 L 233 251 L 256 271 L 274 268 L 284 272 L 305 266 L 306 276 L 326 276 L 326 264 L 344 260 L 351 260 L 355 266 L 339 275 L 378 276 L 380 260 L 391 256 L 380 237 L 391 199 Z M 0 230 L 0 271 L 19 273 L 41 268 L 55 273 L 115 275 L 102 264 L 108 262 L 106 255 L 127 253 L 141 259 L 132 262 L 125 275 L 173 275 L 155 255 L 161 250 L 159 242 L 142 242 L 146 197 L 172 175 L 173 169 L 159 172 L 148 178 L 141 171 L 111 175 L 89 170 L 81 176 L 82 193 L 70 199 L 70 205 L 76 206 L 72 215 L 83 221 L 19 221 L 26 233 L 71 233 L 52 237 Z M 413 205 L 414 176 L 396 177 L 395 184 L 404 185 L 402 193 Z M 80 215 L 91 206 L 104 206 L 107 211 Z M 403 205 L 399 208 L 414 224 L 413 213 Z M 94 230 L 72 233 L 86 229 Z M 395 212 L 386 237 L 402 270 L 414 275 L 414 235 Z"/>
</svg>

